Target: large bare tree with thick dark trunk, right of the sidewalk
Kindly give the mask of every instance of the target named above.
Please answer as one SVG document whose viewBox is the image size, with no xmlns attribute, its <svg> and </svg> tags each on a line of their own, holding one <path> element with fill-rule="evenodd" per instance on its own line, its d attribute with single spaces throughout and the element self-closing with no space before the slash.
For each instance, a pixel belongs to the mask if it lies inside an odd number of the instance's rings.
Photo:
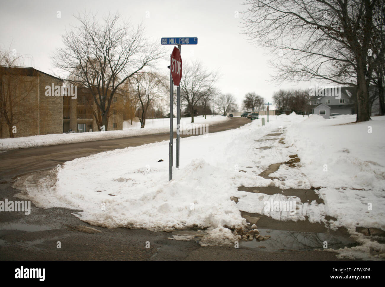
<svg viewBox="0 0 385 287">
<path fill-rule="evenodd" d="M 248 0 L 244 32 L 277 55 L 277 80 L 357 85 L 357 122 L 368 121 L 368 61 L 373 13 L 380 0 Z M 378 59 L 378 60 L 377 60 Z M 353 70 L 353 74 L 349 71 Z"/>
</svg>

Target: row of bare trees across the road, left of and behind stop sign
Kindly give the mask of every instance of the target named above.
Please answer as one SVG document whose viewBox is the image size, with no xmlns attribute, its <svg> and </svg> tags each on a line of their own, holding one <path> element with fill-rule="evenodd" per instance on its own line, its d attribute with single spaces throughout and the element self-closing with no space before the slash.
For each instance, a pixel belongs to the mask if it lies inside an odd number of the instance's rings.
<svg viewBox="0 0 385 287">
<path fill-rule="evenodd" d="M 57 76 L 69 85 L 89 91 L 91 96 L 82 101 L 89 111 L 92 110 L 99 129 L 104 126 L 107 130 L 109 118 L 115 113 L 131 119 L 131 124 L 137 116 L 144 128 L 148 113 L 159 116 L 167 105 L 169 70 L 159 72 L 155 67 L 159 60 L 167 58 L 166 53 L 158 43 L 145 38 L 142 25 L 122 20 L 119 13 L 107 15 L 102 22 L 97 20 L 96 14 L 86 12 L 75 18 L 79 25 L 66 30 L 62 36 L 64 45 L 52 56 Z M 0 60 L 2 64 L 15 66 L 5 53 Z M 5 73 L 1 77 L 0 83 L 11 85 Z M 214 104 L 224 114 L 236 109 L 234 96 L 220 93 L 215 86 L 217 80 L 218 72 L 209 71 L 200 62 L 183 64 L 181 106 L 191 115 L 192 123 L 198 107 L 204 116 L 213 112 Z M 12 84 L 12 88 L 17 85 Z M 6 89 L 10 87 L 0 86 L 0 113 L 11 129 L 23 116 L 30 118 L 30 115 L 15 108 L 17 100 L 9 98 L 9 93 L 7 98 Z M 18 101 L 28 96 L 28 88 L 24 91 Z M 176 97 L 176 93 L 174 95 Z M 122 97 L 119 106 L 114 104 L 117 96 Z"/>
</svg>

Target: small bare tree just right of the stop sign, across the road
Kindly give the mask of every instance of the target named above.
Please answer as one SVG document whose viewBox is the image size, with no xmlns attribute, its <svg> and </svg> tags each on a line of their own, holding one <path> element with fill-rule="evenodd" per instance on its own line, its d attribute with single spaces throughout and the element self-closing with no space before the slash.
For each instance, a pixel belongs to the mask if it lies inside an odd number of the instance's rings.
<svg viewBox="0 0 385 287">
<path fill-rule="evenodd" d="M 198 61 L 193 64 L 183 63 L 183 74 L 180 83 L 181 98 L 187 102 L 194 123 L 194 109 L 201 98 L 213 94 L 217 73 L 208 71 Z"/>
</svg>

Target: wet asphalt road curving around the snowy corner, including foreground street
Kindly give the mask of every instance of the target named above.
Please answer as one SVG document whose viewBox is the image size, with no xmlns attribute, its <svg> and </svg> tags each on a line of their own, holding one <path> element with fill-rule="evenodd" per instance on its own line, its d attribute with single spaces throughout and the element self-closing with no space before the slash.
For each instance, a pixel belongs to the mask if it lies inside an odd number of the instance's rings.
<svg viewBox="0 0 385 287">
<path fill-rule="evenodd" d="M 232 118 L 226 123 L 210 126 L 209 132 L 238 128 L 248 122 L 248 119 Z M 65 161 L 101 151 L 167 139 L 169 134 L 155 134 L 0 153 L 0 200 L 20 200 L 14 197 L 19 191 L 12 188 L 12 178 L 21 174 L 54 168 Z M 337 260 L 332 252 L 202 247 L 194 240 L 167 239 L 174 232 L 93 226 L 101 232 L 87 233 L 71 228 L 91 227 L 73 216 L 73 210 L 41 209 L 33 205 L 31 209 L 28 216 L 23 212 L 1 212 L 0 260 Z M 269 224 L 267 221 L 266 225 Z M 263 224 L 258 227 L 269 228 Z M 60 249 L 57 248 L 58 241 Z M 148 244 L 150 248 L 146 248 Z"/>
</svg>

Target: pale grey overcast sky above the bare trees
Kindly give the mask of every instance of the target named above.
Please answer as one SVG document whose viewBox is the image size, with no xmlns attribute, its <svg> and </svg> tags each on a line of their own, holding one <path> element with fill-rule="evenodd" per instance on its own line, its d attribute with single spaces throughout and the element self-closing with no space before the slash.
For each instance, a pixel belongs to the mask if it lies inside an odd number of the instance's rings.
<svg viewBox="0 0 385 287">
<path fill-rule="evenodd" d="M 237 0 L 206 1 L 2 1 L 0 10 L 0 45 L 25 55 L 24 66 L 52 73 L 50 55 L 62 46 L 61 35 L 70 24 L 78 25 L 75 13 L 87 9 L 101 18 L 119 12 L 133 24 L 146 26 L 146 36 L 160 45 L 162 37 L 198 37 L 198 45 L 184 45 L 182 60 L 199 60 L 210 70 L 219 70 L 217 83 L 223 93 L 232 93 L 238 104 L 247 92 L 255 92 L 272 102 L 280 88 L 307 88 L 310 83 L 271 82 L 274 73 L 268 64 L 268 51 L 246 40 L 241 28 L 245 7 Z M 61 18 L 57 18 L 60 10 Z M 166 48 L 172 51 L 172 45 Z M 163 68 L 162 66 L 160 67 Z M 164 67 L 166 68 L 166 67 Z"/>
</svg>

